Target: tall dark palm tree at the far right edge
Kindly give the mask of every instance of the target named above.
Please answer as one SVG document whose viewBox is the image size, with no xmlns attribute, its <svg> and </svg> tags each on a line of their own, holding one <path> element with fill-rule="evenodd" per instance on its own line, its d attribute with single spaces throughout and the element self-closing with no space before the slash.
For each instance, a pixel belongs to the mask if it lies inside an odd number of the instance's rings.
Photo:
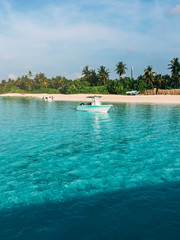
<svg viewBox="0 0 180 240">
<path fill-rule="evenodd" d="M 173 58 L 170 64 L 168 64 L 172 74 L 172 80 L 174 88 L 178 88 L 180 83 L 180 63 L 178 58 Z"/>
</svg>

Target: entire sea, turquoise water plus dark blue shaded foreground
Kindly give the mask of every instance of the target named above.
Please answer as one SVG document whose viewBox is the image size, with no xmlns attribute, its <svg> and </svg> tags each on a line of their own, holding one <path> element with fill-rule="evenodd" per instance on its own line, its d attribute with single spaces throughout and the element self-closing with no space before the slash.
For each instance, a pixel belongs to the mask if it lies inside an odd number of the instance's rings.
<svg viewBox="0 0 180 240">
<path fill-rule="evenodd" d="M 180 239 L 180 105 L 113 105 L 0 98 L 1 240 Z"/>
</svg>

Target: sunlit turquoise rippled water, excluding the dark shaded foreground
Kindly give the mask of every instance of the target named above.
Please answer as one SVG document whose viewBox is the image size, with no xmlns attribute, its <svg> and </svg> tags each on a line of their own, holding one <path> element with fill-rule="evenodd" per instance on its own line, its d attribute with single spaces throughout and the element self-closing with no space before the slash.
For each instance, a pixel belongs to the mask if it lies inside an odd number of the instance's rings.
<svg viewBox="0 0 180 240">
<path fill-rule="evenodd" d="M 1 208 L 180 181 L 179 106 L 75 106 L 0 99 Z"/>
</svg>

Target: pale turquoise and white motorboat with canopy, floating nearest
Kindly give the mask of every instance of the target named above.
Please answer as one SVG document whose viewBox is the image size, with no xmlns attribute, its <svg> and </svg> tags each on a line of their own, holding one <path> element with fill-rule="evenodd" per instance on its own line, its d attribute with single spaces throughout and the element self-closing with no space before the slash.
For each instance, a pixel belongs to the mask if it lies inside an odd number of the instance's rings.
<svg viewBox="0 0 180 240">
<path fill-rule="evenodd" d="M 89 96 L 87 98 L 91 98 L 92 102 L 89 102 L 87 104 L 81 103 L 77 107 L 77 110 L 107 113 L 112 107 L 112 105 L 101 105 L 100 98 L 102 98 L 102 96 Z"/>
</svg>

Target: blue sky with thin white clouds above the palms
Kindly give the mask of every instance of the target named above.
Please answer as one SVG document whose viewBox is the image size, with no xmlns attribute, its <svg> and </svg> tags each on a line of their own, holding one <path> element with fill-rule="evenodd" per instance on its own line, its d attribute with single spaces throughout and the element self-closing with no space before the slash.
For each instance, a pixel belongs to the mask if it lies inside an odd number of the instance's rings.
<svg viewBox="0 0 180 240">
<path fill-rule="evenodd" d="M 0 0 L 0 80 L 31 70 L 75 79 L 101 65 L 116 78 L 180 58 L 180 0 Z"/>
</svg>

